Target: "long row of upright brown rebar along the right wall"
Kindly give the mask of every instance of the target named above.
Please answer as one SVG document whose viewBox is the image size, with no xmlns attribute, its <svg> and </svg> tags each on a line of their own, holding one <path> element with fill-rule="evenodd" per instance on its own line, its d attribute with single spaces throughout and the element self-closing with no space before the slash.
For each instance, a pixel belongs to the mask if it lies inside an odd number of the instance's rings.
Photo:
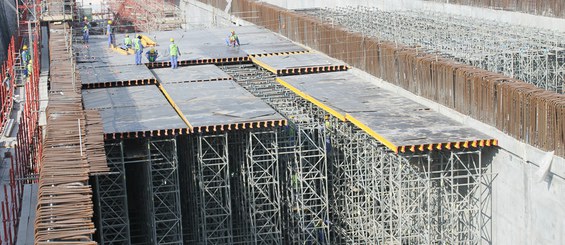
<svg viewBox="0 0 565 245">
<path fill-rule="evenodd" d="M 222 8 L 214 0 L 201 2 Z M 223 8 L 222 8 L 223 9 Z M 421 50 L 354 33 L 316 17 L 250 0 L 235 15 L 320 50 L 412 93 L 565 156 L 565 96 Z"/>
</svg>

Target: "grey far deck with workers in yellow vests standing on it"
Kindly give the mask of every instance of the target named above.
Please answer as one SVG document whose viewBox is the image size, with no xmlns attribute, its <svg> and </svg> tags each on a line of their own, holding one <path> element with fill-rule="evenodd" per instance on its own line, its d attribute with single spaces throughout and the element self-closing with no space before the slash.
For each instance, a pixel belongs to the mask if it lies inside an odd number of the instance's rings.
<svg viewBox="0 0 565 245">
<path fill-rule="evenodd" d="M 239 47 L 228 47 L 226 38 L 231 30 L 235 30 L 239 36 Z M 268 54 L 277 52 L 299 52 L 306 49 L 293 42 L 278 36 L 264 28 L 257 26 L 240 26 L 234 28 L 217 28 L 206 30 L 176 30 L 153 33 L 141 33 L 157 42 L 154 47 L 159 53 L 156 62 L 169 61 L 170 38 L 175 39 L 181 55 L 179 61 L 240 58 L 250 54 Z M 116 34 L 116 44 L 120 46 L 126 34 Z M 130 37 L 136 34 L 130 33 Z M 149 47 L 144 49 L 148 51 Z M 134 55 L 123 55 L 108 48 L 108 38 L 103 35 L 90 37 L 88 45 L 75 44 L 79 63 L 95 63 L 93 66 L 117 66 L 135 64 Z M 142 58 L 144 63 L 149 62 Z"/>
</svg>

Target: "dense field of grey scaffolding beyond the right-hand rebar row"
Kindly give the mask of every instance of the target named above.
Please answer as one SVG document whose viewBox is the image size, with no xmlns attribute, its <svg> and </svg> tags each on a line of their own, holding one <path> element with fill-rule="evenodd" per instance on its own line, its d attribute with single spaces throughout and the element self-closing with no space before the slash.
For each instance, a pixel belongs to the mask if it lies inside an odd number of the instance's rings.
<svg viewBox="0 0 565 245">
<path fill-rule="evenodd" d="M 350 6 L 304 12 L 380 40 L 565 92 L 564 32 L 430 11 Z"/>
</svg>

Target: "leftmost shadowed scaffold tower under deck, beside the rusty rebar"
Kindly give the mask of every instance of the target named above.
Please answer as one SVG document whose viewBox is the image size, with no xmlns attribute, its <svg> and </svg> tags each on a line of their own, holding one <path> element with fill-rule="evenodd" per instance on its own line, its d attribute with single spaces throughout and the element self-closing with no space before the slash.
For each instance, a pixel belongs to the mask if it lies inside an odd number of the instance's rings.
<svg viewBox="0 0 565 245">
<path fill-rule="evenodd" d="M 94 176 L 100 244 L 130 244 L 123 142 L 107 143 L 110 173 Z"/>
</svg>

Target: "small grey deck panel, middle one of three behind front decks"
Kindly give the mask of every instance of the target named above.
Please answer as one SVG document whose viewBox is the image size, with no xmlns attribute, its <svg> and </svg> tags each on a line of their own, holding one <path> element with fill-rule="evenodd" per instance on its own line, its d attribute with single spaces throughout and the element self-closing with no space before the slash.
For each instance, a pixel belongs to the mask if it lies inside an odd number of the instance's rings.
<svg viewBox="0 0 565 245">
<path fill-rule="evenodd" d="M 175 70 L 160 68 L 152 71 L 163 84 L 231 79 L 230 75 L 215 65 L 184 66 Z"/>
</svg>

